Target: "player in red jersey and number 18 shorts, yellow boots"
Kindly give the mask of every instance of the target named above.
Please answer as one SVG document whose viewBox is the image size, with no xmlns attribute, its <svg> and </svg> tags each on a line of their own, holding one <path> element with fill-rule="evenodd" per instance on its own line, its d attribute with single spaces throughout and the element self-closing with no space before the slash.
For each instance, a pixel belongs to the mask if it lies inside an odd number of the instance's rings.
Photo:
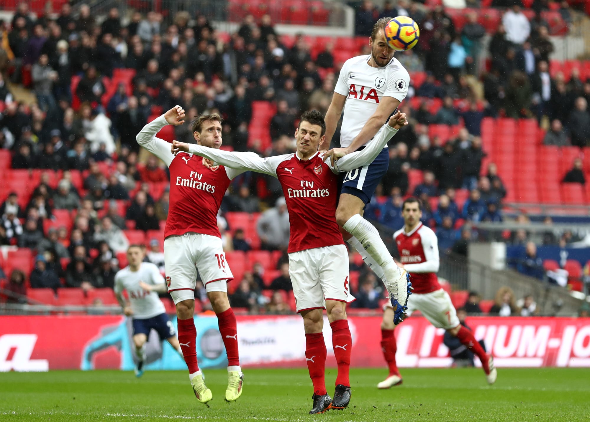
<svg viewBox="0 0 590 422">
<path fill-rule="evenodd" d="M 176 305 L 178 339 L 189 369 L 195 396 L 201 403 L 212 398 L 196 361 L 194 289 L 198 269 L 207 297 L 217 314 L 219 332 L 228 358 L 228 387 L 225 400 L 234 401 L 242 394 L 244 375 L 238 355 L 237 324 L 227 298 L 227 281 L 234 278 L 225 262 L 217 213 L 231 179 L 241 170 L 210 167 L 201 157 L 170 153 L 171 144 L 156 137 L 166 124 L 184 123 L 185 112 L 176 106 L 146 124 L 137 134 L 137 143 L 164 161 L 170 170 L 170 207 L 166 219 L 164 263 L 168 292 Z M 221 117 L 208 114 L 195 118 L 192 131 L 197 143 L 219 148 Z M 255 155 L 255 154 L 254 154 Z M 196 265 L 196 268 L 195 268 Z"/>
</svg>

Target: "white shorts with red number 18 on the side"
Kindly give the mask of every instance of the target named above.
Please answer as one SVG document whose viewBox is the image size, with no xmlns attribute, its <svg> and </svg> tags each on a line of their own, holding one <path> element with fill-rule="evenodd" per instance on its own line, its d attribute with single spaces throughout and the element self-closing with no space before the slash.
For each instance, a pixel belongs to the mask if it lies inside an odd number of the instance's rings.
<svg viewBox="0 0 590 422">
<path fill-rule="evenodd" d="M 227 282 L 234 278 L 225 262 L 221 239 L 201 233 L 168 236 L 164 240 L 164 265 L 174 304 L 195 298 L 197 269 L 207 292 L 227 292 Z"/>
</svg>

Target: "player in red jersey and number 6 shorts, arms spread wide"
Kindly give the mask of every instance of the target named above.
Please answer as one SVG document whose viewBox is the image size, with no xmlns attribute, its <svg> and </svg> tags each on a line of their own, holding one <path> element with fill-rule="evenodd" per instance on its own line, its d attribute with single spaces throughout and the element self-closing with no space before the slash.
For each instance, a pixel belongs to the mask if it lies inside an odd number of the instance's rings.
<svg viewBox="0 0 590 422">
<path fill-rule="evenodd" d="M 262 159 L 247 153 L 173 142 L 175 152 L 189 151 L 227 167 L 270 174 L 281 183 L 289 210 L 289 273 L 297 312 L 303 317 L 307 368 L 314 388 L 310 413 L 323 413 L 327 408 L 342 409 L 350 401 L 352 337 L 346 320 L 346 302 L 354 298 L 349 294 L 348 252 L 335 216 L 336 173 L 371 163 L 398 128 L 405 124 L 405 114 L 396 113 L 375 137 L 375 142 L 336 163 L 332 160 L 324 163 L 318 153 L 326 123 L 316 110 L 301 116 L 299 128 L 295 131 L 297 152 L 293 154 Z M 327 394 L 324 381 L 323 308 L 332 328 L 332 347 L 338 364 L 334 400 Z"/>
</svg>

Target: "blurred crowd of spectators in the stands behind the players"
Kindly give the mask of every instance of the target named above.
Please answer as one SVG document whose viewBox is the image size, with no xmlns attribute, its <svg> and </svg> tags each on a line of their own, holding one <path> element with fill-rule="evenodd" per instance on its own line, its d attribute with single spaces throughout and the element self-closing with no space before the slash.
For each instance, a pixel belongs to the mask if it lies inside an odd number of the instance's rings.
<svg viewBox="0 0 590 422">
<path fill-rule="evenodd" d="M 365 36 L 380 15 L 414 18 L 421 41 L 396 57 L 408 71 L 425 71 L 427 76 L 411 88 L 408 100 L 442 100 L 435 114 L 428 103 L 404 103 L 410 124 L 392 140 L 388 174 L 366 213 L 399 229 L 402 197 L 413 194 L 424 205 L 423 222 L 437 226 L 441 250 L 461 255 L 467 255 L 472 237 L 464 222 L 503 220 L 506 189 L 496 165 L 490 163 L 480 177 L 486 157 L 480 139 L 483 117 L 548 119 L 548 144 L 584 146 L 590 140 L 590 83 L 576 78 L 575 72 L 569 81 L 563 75 L 550 78 L 553 45 L 546 22 L 540 15 L 532 22 L 523 19 L 519 2 L 499 3 L 510 9 L 491 38 L 489 70 L 478 58 L 485 29 L 476 14 L 469 15 L 461 31 L 455 31 L 443 8 L 428 10 L 419 2 L 386 2 L 385 9 L 378 10 L 365 1 L 356 15 L 356 31 Z M 534 4 L 542 9 L 545 2 Z M 567 21 L 566 2 L 560 12 Z M 160 187 L 168 182 L 168 169 L 140 151 L 135 136 L 163 110 L 180 104 L 188 120 L 220 113 L 225 119 L 224 145 L 234 150 L 263 155 L 294 151 L 297 116 L 308 108 L 327 110 L 342 62 L 335 60 L 339 46 L 333 42 L 309 45 L 303 35 L 292 41 L 287 47 L 268 16 L 256 22 L 248 15 L 235 33 L 224 34 L 204 16 L 187 12 L 166 18 L 136 12 L 123 25 L 113 8 L 97 24 L 87 5 L 75 16 L 66 3 L 57 18 L 35 19 L 27 4 L 20 3 L 11 22 L 0 22 L 0 147 L 10 151 L 7 164 L 12 169 L 48 173 L 42 174 L 30 200 L 3 188 L 2 197 L 8 197 L 0 210 L 0 244 L 35 250 L 30 285 L 110 287 L 117 253 L 130 243 L 124 230 L 161 230 L 168 190 Z M 361 52 L 370 53 L 368 43 Z M 483 84 L 478 83 L 480 74 Z M 22 86 L 30 88 L 37 101 L 22 93 L 16 100 L 8 81 L 21 85 L 21 91 Z M 457 100 L 464 100 L 461 107 Z M 253 101 L 276 103 L 268 148 L 248 134 Z M 430 124 L 458 128 L 460 122 L 463 126 L 446 143 L 429 135 Z M 173 137 L 192 140 L 187 125 L 178 127 Z M 584 183 L 576 166 L 566 178 Z M 412 170 L 424 173 L 421 183 L 411 183 Z M 57 210 L 74 216 L 71 230 L 45 229 L 44 221 L 54 219 Z M 286 248 L 288 216 L 275 179 L 251 173 L 238 177 L 225 196 L 222 214 L 226 212 L 263 212 L 257 226 L 261 248 Z M 222 215 L 219 226 L 227 250 L 251 248 L 243 230 L 228 226 Z M 163 238 L 147 240 L 148 259 L 162 265 Z M 65 268 L 61 258 L 70 260 Z M 281 275 L 270 288 L 289 290 L 288 264 L 283 259 L 277 265 Z M 11 285 L 18 285 L 19 279 L 22 285 L 27 275 L 15 269 L 4 276 Z M 376 286 L 374 275 L 363 273 L 354 292 L 358 306 L 375 307 L 382 298 Z M 248 272 L 232 301 L 245 307 L 270 306 L 276 312 L 289 309 L 284 295 L 268 298 L 261 295 L 263 289 L 261 273 Z"/>
</svg>

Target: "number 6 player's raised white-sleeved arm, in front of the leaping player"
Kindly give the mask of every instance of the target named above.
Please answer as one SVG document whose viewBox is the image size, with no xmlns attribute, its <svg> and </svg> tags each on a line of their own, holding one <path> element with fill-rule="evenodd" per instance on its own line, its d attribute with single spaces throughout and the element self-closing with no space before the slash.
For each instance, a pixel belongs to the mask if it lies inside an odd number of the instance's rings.
<svg viewBox="0 0 590 422">
<path fill-rule="evenodd" d="M 341 159 L 337 160 L 334 164 L 332 161 L 327 163 L 336 172 L 348 172 L 359 167 L 366 166 L 371 163 L 381 153 L 385 145 L 394 136 L 399 128 L 408 124 L 405 113 L 398 111 L 389 118 L 388 123 L 383 125 L 383 130 L 379 132 L 378 136 L 361 151 L 355 151 L 350 153 Z"/>
</svg>

